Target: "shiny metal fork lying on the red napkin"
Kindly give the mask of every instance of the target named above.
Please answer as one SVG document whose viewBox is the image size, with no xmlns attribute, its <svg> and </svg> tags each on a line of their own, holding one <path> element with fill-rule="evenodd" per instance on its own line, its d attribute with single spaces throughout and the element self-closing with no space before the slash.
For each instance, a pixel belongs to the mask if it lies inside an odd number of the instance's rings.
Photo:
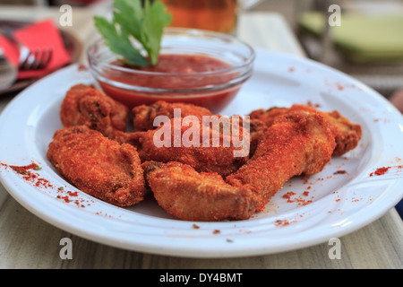
<svg viewBox="0 0 403 287">
<path fill-rule="evenodd" d="M 7 28 L 0 28 L 0 32 L 17 45 L 20 51 L 19 68 L 20 70 L 37 70 L 43 69 L 52 59 L 52 48 L 36 48 L 30 50 L 21 41 L 13 37 L 13 31 Z"/>
</svg>

